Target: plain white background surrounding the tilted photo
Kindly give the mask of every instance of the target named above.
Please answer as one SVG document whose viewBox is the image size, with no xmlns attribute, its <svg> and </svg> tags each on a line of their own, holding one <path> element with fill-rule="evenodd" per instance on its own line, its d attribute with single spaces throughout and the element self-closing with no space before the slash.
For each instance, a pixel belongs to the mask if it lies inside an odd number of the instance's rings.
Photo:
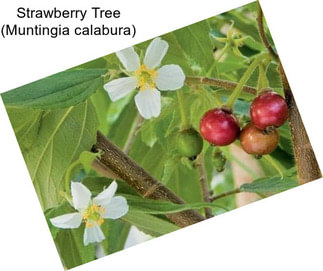
<svg viewBox="0 0 323 271">
<path fill-rule="evenodd" d="M 20 2 L 20 4 L 19 4 Z M 53 3 L 53 1 L 50 1 Z M 1 39 L 0 92 L 183 27 L 250 1 L 93 1 L 121 10 L 111 24 L 135 24 L 135 39 Z M 323 168 L 321 1 L 262 0 L 262 7 L 316 155 Z M 33 8 L 49 8 L 43 0 Z M 60 8 L 92 1 L 55 1 Z M 0 21 L 26 1 L 1 1 Z M 94 4 L 92 4 L 94 5 Z M 73 20 L 70 20 L 73 23 Z M 41 22 L 64 24 L 62 20 Z M 78 21 L 74 22 L 79 24 Z M 84 22 L 89 24 L 90 21 Z M 109 21 L 106 22 L 109 24 Z M 0 103 L 2 270 L 62 270 L 14 133 Z M 146 242 L 75 270 L 322 270 L 322 180 Z"/>
</svg>

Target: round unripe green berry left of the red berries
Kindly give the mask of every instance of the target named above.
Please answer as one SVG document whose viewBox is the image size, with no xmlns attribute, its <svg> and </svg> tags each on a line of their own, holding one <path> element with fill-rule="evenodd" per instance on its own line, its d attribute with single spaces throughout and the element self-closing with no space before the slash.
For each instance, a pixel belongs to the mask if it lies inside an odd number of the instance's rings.
<svg viewBox="0 0 323 271">
<path fill-rule="evenodd" d="M 203 139 L 193 128 L 181 131 L 177 136 L 178 152 L 191 160 L 200 154 L 203 148 Z M 194 159 L 195 160 L 195 159 Z"/>
</svg>

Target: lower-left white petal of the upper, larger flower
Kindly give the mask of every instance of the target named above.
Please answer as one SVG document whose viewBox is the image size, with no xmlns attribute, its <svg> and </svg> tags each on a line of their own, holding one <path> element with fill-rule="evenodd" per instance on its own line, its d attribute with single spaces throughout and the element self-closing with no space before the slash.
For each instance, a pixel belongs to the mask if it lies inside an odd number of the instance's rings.
<svg viewBox="0 0 323 271">
<path fill-rule="evenodd" d="M 131 76 L 112 80 L 103 87 L 108 92 L 111 101 L 115 102 L 133 91 L 137 85 L 138 79 Z"/>
</svg>

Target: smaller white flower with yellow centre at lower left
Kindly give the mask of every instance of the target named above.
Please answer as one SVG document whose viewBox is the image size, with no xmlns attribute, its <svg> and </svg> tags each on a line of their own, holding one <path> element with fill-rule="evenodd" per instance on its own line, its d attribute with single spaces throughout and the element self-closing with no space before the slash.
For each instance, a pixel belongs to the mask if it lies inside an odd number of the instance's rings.
<svg viewBox="0 0 323 271">
<path fill-rule="evenodd" d="M 128 204 L 124 197 L 114 197 L 117 183 L 112 182 L 107 189 L 91 199 L 91 192 L 83 184 L 72 182 L 71 192 L 75 213 L 61 215 L 50 219 L 57 228 L 75 229 L 85 223 L 83 243 L 100 243 L 105 236 L 100 228 L 105 218 L 117 219 L 128 212 Z"/>
</svg>

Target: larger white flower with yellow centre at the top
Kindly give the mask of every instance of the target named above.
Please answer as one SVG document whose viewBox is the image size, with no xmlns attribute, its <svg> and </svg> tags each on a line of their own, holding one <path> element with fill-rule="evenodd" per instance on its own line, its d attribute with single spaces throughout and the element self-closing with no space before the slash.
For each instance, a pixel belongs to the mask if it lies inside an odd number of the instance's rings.
<svg viewBox="0 0 323 271">
<path fill-rule="evenodd" d="M 168 43 L 161 38 L 154 39 L 148 46 L 144 63 L 140 65 L 138 54 L 133 47 L 117 52 L 117 57 L 130 74 L 129 77 L 112 80 L 104 85 L 112 101 L 117 101 L 134 89 L 139 89 L 135 97 L 138 111 L 145 119 L 158 117 L 161 110 L 158 90 L 176 90 L 184 85 L 185 75 L 178 65 L 160 68 L 168 50 Z"/>
</svg>

